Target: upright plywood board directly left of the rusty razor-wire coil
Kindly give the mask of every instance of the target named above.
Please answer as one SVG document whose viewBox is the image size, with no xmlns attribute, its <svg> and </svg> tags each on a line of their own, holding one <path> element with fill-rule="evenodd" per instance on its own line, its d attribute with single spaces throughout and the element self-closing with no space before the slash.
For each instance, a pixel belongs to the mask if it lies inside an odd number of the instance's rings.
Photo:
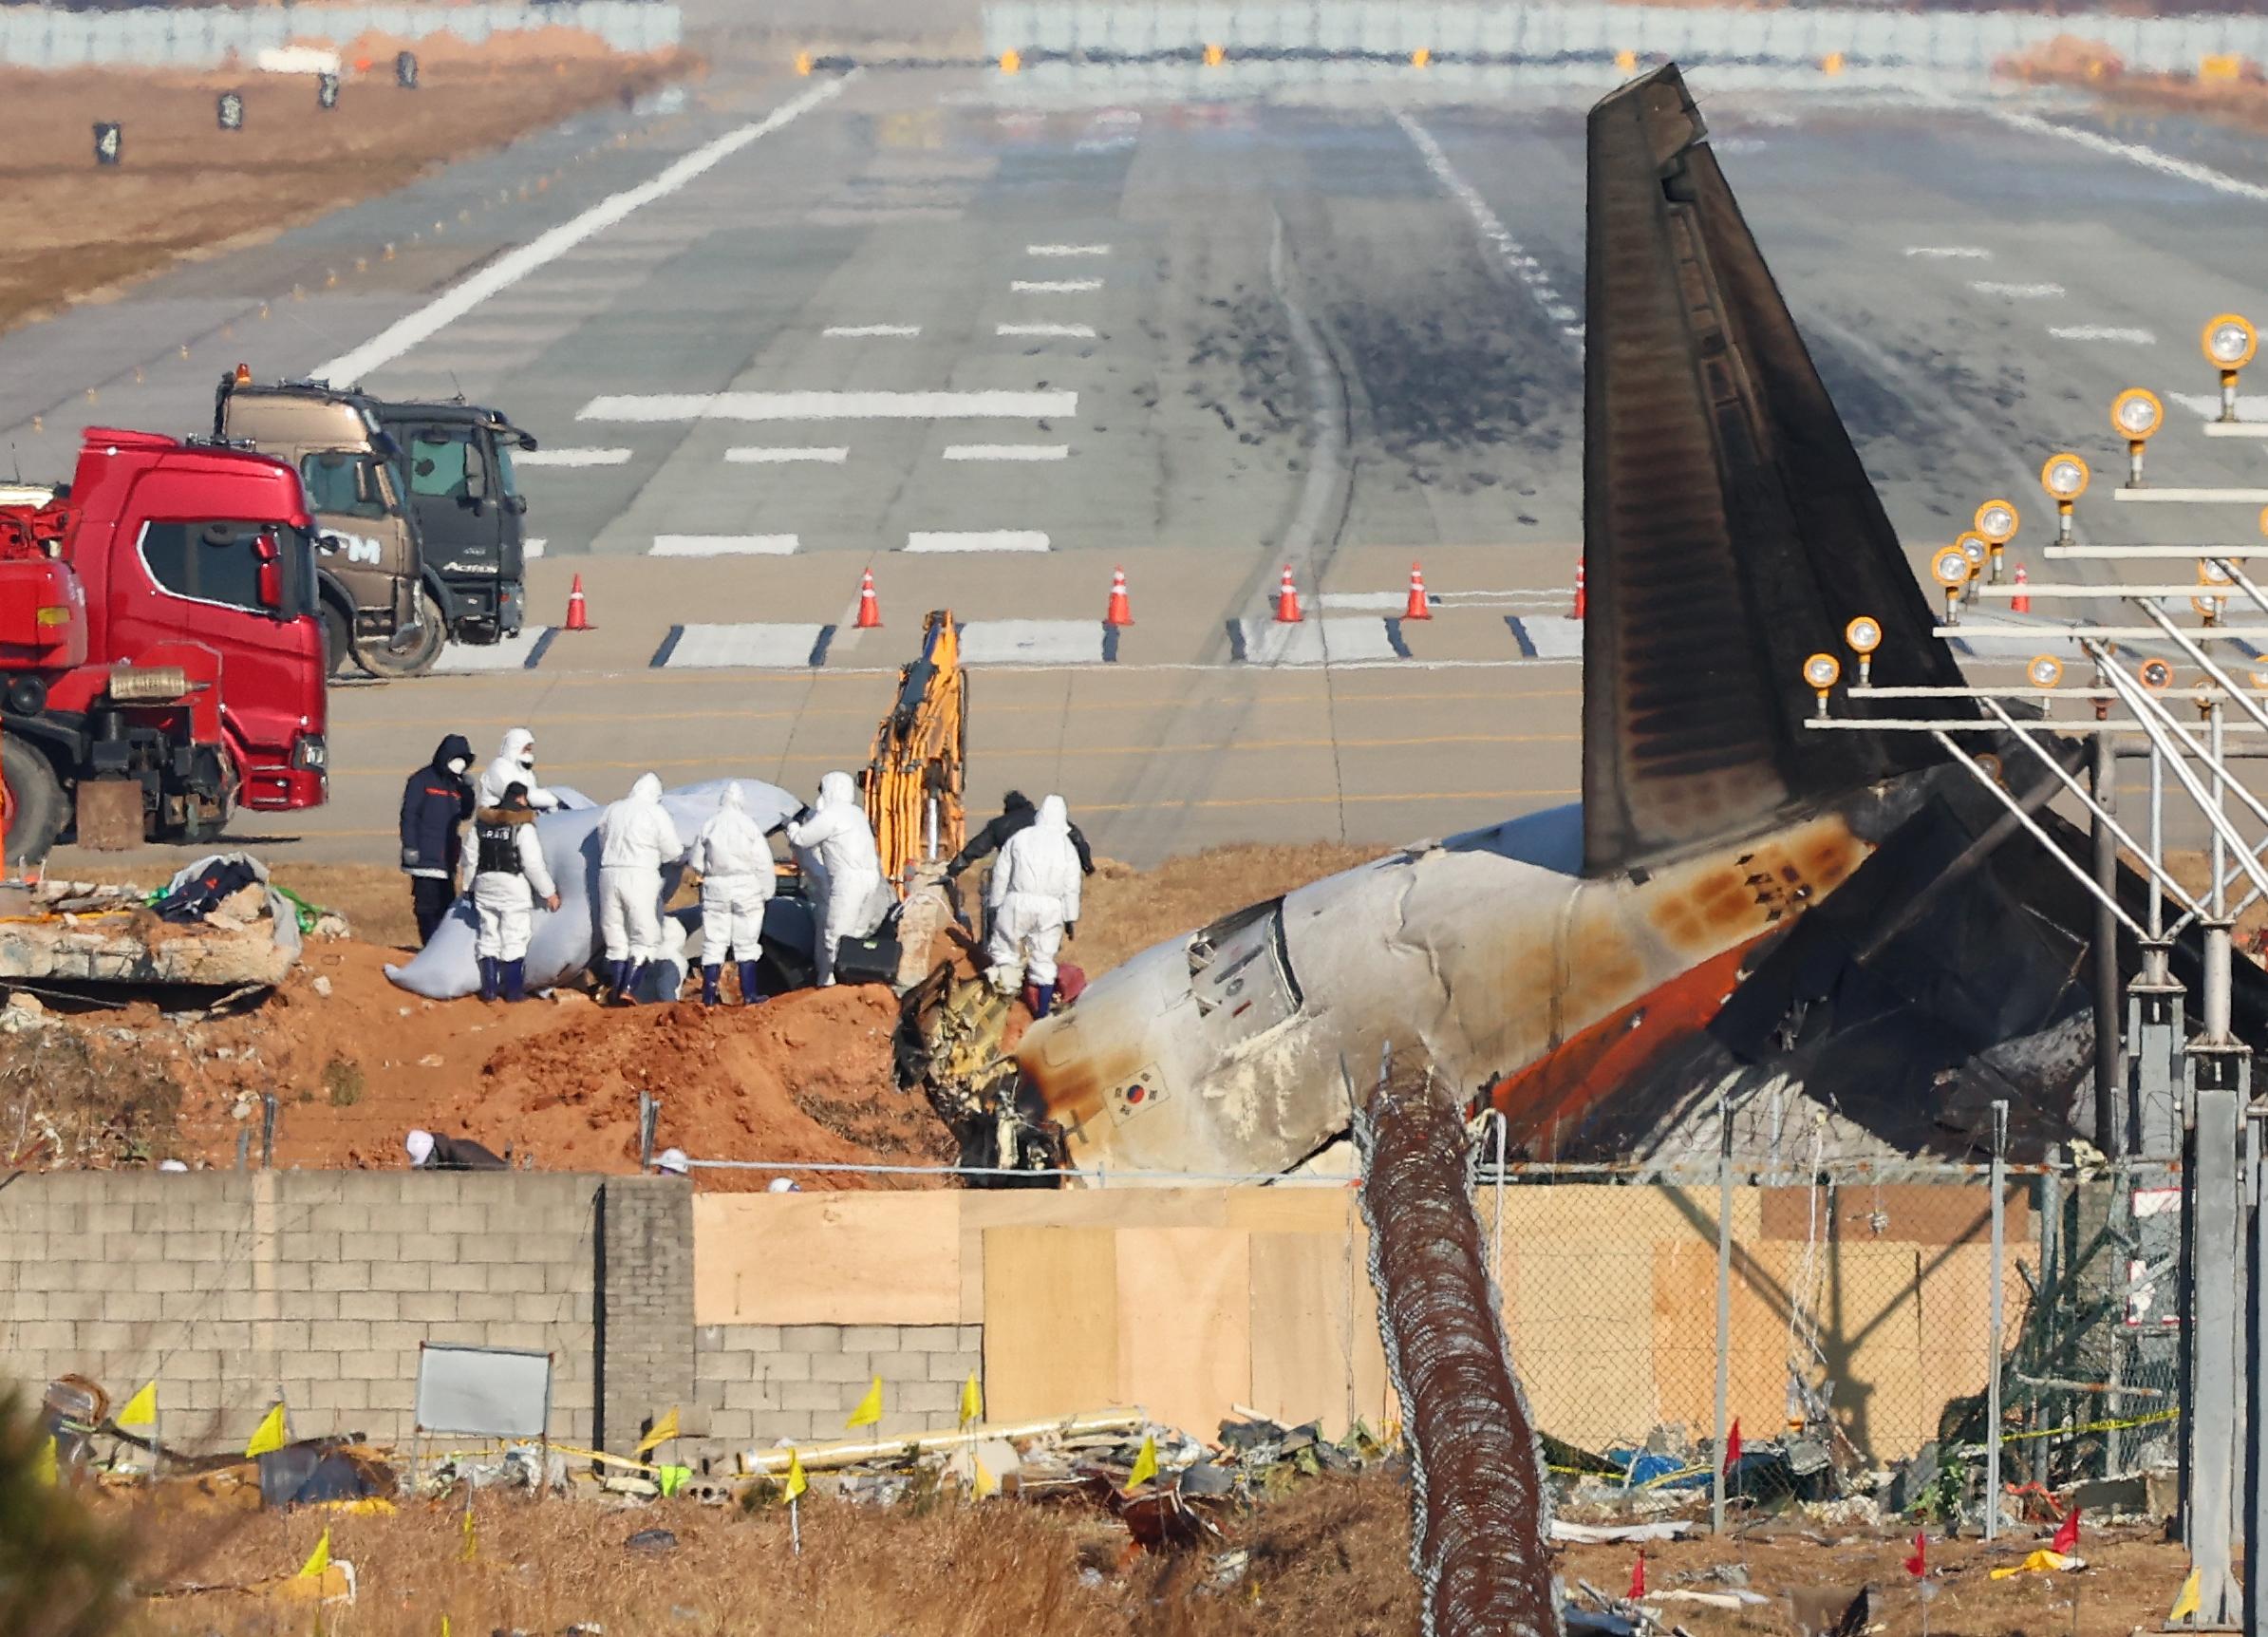
<svg viewBox="0 0 2268 1637">
<path fill-rule="evenodd" d="M 1370 1295 L 1368 1242 L 1338 1233 L 1252 1236 L 1252 1397 L 1286 1426 L 1399 1419 Z"/>
</svg>

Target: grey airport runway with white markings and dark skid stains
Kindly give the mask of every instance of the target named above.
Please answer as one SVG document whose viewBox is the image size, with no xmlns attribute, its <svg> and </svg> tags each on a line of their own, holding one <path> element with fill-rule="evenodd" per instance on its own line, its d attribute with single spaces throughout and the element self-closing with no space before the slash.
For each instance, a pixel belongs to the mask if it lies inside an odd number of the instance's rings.
<svg viewBox="0 0 2268 1637">
<path fill-rule="evenodd" d="M 2089 537 L 2250 537 L 2257 506 L 2102 490 L 2136 383 L 2173 413 L 2159 481 L 2259 483 L 2254 444 L 2193 435 L 2195 333 L 2259 315 L 2268 150 L 1692 82 L 1916 567 L 2007 494 L 2037 578 L 2064 447 Z M 390 859 L 451 730 L 533 726 L 601 800 L 646 766 L 807 789 L 864 762 L 930 608 L 980 671 L 975 807 L 1059 789 L 1116 857 L 1572 800 L 1588 93 L 1143 84 L 717 73 L 0 338 L 0 424 L 61 476 L 82 424 L 209 424 L 243 358 L 542 438 L 531 608 L 581 574 L 596 630 L 338 687 L 331 805 L 238 825 L 284 862 Z"/>
</svg>

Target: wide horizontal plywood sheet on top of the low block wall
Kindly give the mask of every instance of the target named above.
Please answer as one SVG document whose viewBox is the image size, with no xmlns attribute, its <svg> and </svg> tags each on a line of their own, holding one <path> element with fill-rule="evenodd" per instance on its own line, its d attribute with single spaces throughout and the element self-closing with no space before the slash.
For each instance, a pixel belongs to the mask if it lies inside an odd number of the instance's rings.
<svg viewBox="0 0 2268 1637">
<path fill-rule="evenodd" d="M 957 1324 L 959 1199 L 694 1195 L 694 1324 Z"/>
</svg>

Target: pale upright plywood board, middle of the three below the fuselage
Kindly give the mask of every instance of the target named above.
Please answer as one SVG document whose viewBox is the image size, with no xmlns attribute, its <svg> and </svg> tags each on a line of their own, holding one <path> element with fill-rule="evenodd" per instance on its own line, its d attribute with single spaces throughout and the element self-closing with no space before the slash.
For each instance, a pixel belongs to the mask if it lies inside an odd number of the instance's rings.
<svg viewBox="0 0 2268 1637">
<path fill-rule="evenodd" d="M 1250 1394 L 1252 1236 L 1120 1229 L 1118 1401 L 1211 1437 Z"/>
</svg>

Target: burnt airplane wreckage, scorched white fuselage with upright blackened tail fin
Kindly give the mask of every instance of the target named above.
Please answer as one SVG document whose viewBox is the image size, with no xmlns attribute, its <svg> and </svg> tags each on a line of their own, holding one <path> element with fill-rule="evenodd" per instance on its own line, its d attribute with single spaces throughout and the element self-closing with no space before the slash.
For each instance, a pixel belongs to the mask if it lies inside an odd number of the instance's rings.
<svg viewBox="0 0 2268 1637">
<path fill-rule="evenodd" d="M 2091 1097 L 2084 893 L 1928 737 L 1803 728 L 1803 660 L 1860 614 L 1878 687 L 1962 676 L 1676 68 L 1588 141 L 1583 800 L 1159 943 L 1034 1025 L 1021 1075 L 978 1068 L 1077 1170 L 1297 1168 L 1383 1047 L 1535 1159 L 1667 1154 L 1719 1088 L 1767 1086 L 1880 1154 L 1966 1154 L 2007 1097 L 2023 1156 Z M 2003 762 L 2084 859 L 2048 771 Z M 2193 982 L 2198 948 L 2175 961 Z M 934 986 L 916 1009 L 934 1038 Z"/>
</svg>

